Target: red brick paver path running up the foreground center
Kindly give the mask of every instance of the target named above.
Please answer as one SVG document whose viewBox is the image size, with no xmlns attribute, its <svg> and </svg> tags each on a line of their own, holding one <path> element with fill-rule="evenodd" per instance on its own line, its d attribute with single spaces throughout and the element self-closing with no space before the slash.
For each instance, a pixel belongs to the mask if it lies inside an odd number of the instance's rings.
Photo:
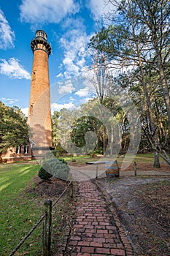
<svg viewBox="0 0 170 256">
<path fill-rule="evenodd" d="M 61 255 L 134 255 L 114 208 L 93 181 L 79 183 L 76 222 Z"/>
</svg>

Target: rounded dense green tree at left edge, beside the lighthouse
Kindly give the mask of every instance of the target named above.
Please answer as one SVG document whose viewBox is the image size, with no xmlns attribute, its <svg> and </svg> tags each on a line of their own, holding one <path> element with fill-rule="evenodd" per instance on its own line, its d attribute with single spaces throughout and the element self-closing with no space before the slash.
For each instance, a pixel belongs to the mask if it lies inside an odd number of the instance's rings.
<svg viewBox="0 0 170 256">
<path fill-rule="evenodd" d="M 10 147 L 28 144 L 27 118 L 20 108 L 0 102 L 0 155 Z"/>
</svg>

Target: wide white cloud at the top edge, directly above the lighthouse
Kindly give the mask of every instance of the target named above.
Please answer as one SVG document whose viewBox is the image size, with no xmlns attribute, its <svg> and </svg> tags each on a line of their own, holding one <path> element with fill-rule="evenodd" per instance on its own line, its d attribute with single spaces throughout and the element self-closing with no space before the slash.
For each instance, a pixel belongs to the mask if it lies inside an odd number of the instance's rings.
<svg viewBox="0 0 170 256">
<path fill-rule="evenodd" d="M 22 0 L 20 19 L 32 24 L 59 23 L 67 14 L 78 11 L 74 0 Z"/>
</svg>

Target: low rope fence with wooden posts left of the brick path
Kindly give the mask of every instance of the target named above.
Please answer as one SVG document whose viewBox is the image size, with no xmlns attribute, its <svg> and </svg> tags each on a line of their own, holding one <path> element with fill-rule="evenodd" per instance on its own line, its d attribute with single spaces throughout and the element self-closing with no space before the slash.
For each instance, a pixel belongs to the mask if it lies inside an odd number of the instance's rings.
<svg viewBox="0 0 170 256">
<path fill-rule="evenodd" d="M 72 177 L 71 177 L 72 178 Z M 42 256 L 50 256 L 50 246 L 51 246 L 51 223 L 52 223 L 52 208 L 58 203 L 58 201 L 63 197 L 66 190 L 70 187 L 70 197 L 73 197 L 73 184 L 72 180 L 69 182 L 69 184 L 66 186 L 66 188 L 63 190 L 61 195 L 58 197 L 57 200 L 53 203 L 52 200 L 45 200 L 44 206 L 45 206 L 45 214 L 42 215 L 42 217 L 39 218 L 39 221 L 36 222 L 34 227 L 29 230 L 27 235 L 18 243 L 18 245 L 15 247 L 15 249 L 12 250 L 12 252 L 8 256 L 12 256 L 15 254 L 15 252 L 18 251 L 20 246 L 23 245 L 23 243 L 27 240 L 29 236 L 31 236 L 31 233 L 34 232 L 36 227 L 39 226 L 39 224 L 44 220 L 43 222 L 43 232 L 42 232 Z M 52 206 L 53 204 L 53 206 Z"/>
</svg>

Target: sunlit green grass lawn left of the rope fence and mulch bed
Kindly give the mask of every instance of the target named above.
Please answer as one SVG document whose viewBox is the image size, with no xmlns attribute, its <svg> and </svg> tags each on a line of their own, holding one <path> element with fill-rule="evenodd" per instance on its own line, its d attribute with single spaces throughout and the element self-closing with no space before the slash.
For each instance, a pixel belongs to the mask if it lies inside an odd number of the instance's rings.
<svg viewBox="0 0 170 256">
<path fill-rule="evenodd" d="M 0 255 L 9 255 L 42 215 L 42 206 L 24 192 L 39 170 L 38 165 L 0 165 Z M 34 186 L 34 184 L 33 184 Z M 34 235 L 33 235 L 34 234 Z M 26 255 L 38 255 L 39 230 L 21 247 Z M 30 248 L 34 247 L 31 252 Z M 18 251 L 20 252 L 20 251 Z M 17 255 L 17 253 L 16 253 Z M 19 254 L 18 254 L 19 255 Z"/>
</svg>

